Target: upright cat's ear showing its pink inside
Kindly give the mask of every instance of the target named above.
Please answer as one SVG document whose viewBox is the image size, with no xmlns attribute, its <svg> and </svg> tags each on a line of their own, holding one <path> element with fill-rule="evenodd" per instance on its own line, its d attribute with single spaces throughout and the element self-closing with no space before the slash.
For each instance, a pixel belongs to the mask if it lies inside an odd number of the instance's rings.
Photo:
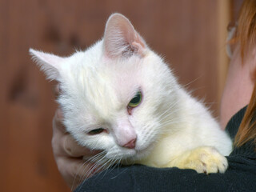
<svg viewBox="0 0 256 192">
<path fill-rule="evenodd" d="M 112 14 L 106 22 L 104 34 L 104 54 L 109 58 L 146 54 L 146 42 L 134 30 L 128 18 L 122 14 Z"/>
</svg>

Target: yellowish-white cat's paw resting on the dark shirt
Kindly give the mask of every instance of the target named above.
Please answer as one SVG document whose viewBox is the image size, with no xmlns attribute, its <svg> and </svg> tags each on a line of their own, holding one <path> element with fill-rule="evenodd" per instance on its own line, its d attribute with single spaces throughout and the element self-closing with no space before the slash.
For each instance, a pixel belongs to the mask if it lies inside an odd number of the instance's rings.
<svg viewBox="0 0 256 192">
<path fill-rule="evenodd" d="M 177 160 L 178 168 L 193 169 L 198 173 L 224 173 L 228 167 L 226 158 L 218 152 L 214 147 L 202 146 L 194 150 L 186 151 Z"/>
</svg>

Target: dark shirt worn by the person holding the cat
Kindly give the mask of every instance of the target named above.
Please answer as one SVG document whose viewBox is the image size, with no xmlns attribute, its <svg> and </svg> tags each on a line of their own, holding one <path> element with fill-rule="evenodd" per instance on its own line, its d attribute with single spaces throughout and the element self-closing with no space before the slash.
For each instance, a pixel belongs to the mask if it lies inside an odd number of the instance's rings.
<svg viewBox="0 0 256 192">
<path fill-rule="evenodd" d="M 226 126 L 234 138 L 246 108 L 240 110 Z M 81 191 L 256 191 L 255 146 L 247 142 L 234 148 L 227 157 L 229 168 L 225 174 L 198 174 L 195 170 L 154 168 L 134 165 L 105 170 L 84 181 Z"/>
</svg>

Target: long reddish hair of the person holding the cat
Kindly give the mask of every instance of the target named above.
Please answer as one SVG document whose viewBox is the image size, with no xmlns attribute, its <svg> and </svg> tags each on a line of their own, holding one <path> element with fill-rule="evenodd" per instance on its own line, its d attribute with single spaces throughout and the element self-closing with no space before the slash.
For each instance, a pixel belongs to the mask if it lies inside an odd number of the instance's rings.
<svg viewBox="0 0 256 192">
<path fill-rule="evenodd" d="M 238 28 L 234 41 L 240 45 L 242 60 L 246 54 L 250 53 L 256 45 L 256 0 L 245 0 L 242 3 L 238 18 Z M 234 144 L 242 146 L 246 142 L 252 141 L 256 144 L 256 81 L 254 91 L 247 106 L 246 114 L 242 119 L 235 137 Z M 255 147 L 256 150 L 256 147 Z"/>
</svg>

